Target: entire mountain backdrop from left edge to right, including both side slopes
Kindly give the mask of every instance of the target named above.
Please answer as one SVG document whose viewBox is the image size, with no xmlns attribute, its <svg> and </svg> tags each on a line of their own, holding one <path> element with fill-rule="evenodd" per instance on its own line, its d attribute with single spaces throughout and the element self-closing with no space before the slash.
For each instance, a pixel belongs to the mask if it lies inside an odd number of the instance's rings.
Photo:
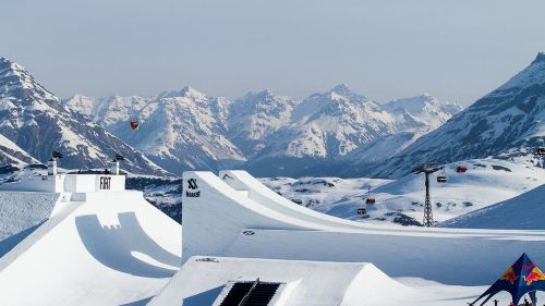
<svg viewBox="0 0 545 306">
<path fill-rule="evenodd" d="M 259 176 L 382 178 L 424 161 L 494 156 L 535 163 L 545 134 L 544 71 L 540 53 L 462 111 L 427 94 L 380 105 L 343 84 L 303 100 L 263 90 L 231 101 L 187 86 L 153 97 L 60 101 L 1 59 L 0 134 L 13 146 L 2 149 L 0 138 L 0 159 L 44 162 L 58 149 L 68 168 L 106 167 L 121 152 L 137 173 L 241 168 Z"/>
</svg>

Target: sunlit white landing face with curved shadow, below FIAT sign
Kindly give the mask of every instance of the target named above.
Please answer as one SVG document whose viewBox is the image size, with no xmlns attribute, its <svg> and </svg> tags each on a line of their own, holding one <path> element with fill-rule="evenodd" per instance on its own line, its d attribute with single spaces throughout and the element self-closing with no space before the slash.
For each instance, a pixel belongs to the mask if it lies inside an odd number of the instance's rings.
<svg viewBox="0 0 545 306">
<path fill-rule="evenodd" d="M 141 192 L 72 194 L 68 205 L 78 207 L 5 255 L 0 305 L 145 305 L 181 266 L 181 225 Z"/>
</svg>

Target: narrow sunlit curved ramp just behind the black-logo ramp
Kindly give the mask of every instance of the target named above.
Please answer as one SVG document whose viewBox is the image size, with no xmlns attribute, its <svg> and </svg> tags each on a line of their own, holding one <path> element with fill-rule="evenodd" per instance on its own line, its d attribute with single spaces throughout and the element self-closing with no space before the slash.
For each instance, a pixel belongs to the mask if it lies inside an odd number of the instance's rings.
<svg viewBox="0 0 545 306">
<path fill-rule="evenodd" d="M 344 229 L 362 228 L 359 222 L 336 218 L 329 215 L 319 213 L 315 210 L 294 204 L 280 196 L 257 179 L 243 170 L 225 170 L 219 172 L 219 178 L 229 186 L 237 191 L 245 191 L 249 198 L 258 201 L 265 207 L 280 213 L 289 215 L 300 220 L 305 220 L 324 227 L 335 227 Z"/>
</svg>

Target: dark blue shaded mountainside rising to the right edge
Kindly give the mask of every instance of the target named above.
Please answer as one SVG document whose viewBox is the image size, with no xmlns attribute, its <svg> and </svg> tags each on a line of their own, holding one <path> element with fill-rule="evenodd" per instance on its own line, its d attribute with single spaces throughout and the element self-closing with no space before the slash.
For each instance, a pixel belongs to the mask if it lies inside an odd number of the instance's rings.
<svg viewBox="0 0 545 306">
<path fill-rule="evenodd" d="M 380 164 L 373 174 L 399 176 L 420 162 L 488 156 L 537 164 L 545 146 L 545 53 L 496 90 Z"/>
</svg>

